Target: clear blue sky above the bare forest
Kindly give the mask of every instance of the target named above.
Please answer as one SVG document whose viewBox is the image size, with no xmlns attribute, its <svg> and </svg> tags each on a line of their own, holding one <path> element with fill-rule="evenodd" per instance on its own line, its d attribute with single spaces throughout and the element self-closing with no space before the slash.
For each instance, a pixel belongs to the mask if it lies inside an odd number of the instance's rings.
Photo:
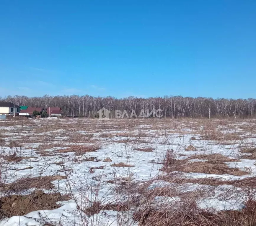
<svg viewBox="0 0 256 226">
<path fill-rule="evenodd" d="M 0 2 L 0 96 L 256 98 L 256 1 Z"/>
</svg>

